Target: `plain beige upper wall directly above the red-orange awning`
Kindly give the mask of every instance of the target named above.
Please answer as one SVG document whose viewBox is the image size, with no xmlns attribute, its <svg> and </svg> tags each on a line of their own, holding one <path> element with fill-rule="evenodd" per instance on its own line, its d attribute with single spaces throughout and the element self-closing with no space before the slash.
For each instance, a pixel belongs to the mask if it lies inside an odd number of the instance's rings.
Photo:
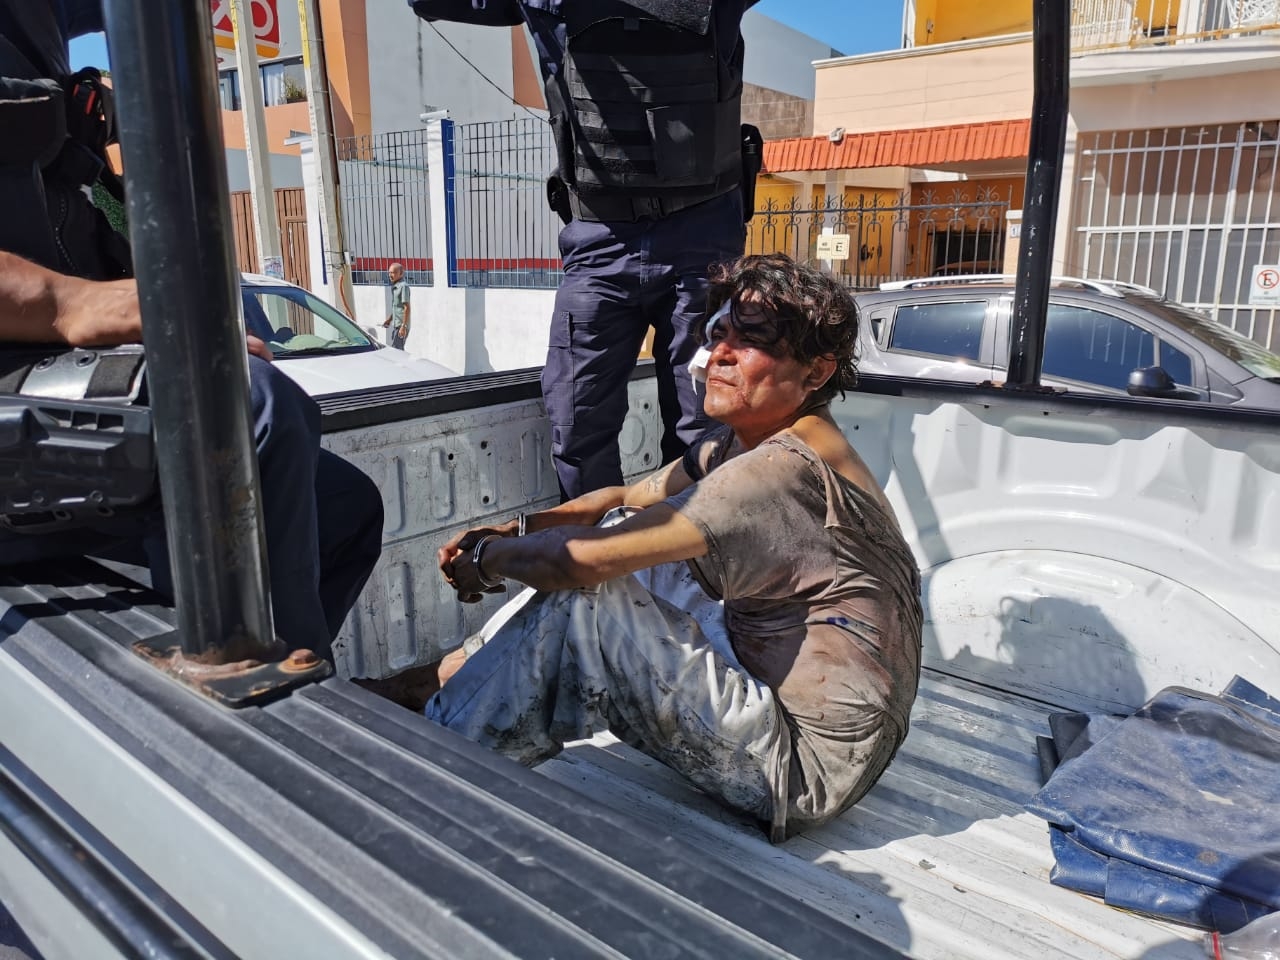
<svg viewBox="0 0 1280 960">
<path fill-rule="evenodd" d="M 814 134 L 1025 119 L 1030 41 L 851 58 L 818 68 Z"/>
</svg>

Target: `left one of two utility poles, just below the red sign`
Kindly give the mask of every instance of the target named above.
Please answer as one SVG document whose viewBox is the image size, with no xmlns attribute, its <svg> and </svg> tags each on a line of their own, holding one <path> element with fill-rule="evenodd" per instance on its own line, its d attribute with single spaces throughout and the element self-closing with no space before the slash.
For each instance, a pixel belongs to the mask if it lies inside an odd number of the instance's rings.
<svg viewBox="0 0 1280 960">
<path fill-rule="evenodd" d="M 241 110 L 244 114 L 244 152 L 248 159 L 250 198 L 253 202 L 257 265 L 261 273 L 283 279 L 284 260 L 280 256 L 280 225 L 275 219 L 275 191 L 271 189 L 271 154 L 266 143 L 262 74 L 257 68 L 253 12 L 250 0 L 230 0 L 230 8 L 236 59 L 239 61 Z"/>
</svg>

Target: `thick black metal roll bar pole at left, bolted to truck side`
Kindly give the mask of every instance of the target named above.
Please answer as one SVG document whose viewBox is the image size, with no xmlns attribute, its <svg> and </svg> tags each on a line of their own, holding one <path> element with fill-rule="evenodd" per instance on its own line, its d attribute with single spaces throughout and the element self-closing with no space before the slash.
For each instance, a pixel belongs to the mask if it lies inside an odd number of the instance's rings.
<svg viewBox="0 0 1280 960">
<path fill-rule="evenodd" d="M 275 659 L 209 3 L 106 27 L 182 657 Z"/>
</svg>

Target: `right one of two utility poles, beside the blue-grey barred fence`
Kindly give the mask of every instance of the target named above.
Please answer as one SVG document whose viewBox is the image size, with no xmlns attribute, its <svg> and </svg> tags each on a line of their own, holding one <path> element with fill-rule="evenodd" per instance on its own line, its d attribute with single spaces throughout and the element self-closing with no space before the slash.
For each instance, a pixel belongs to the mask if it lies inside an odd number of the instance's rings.
<svg viewBox="0 0 1280 960">
<path fill-rule="evenodd" d="M 307 74 L 307 113 L 315 138 L 316 174 L 320 179 L 320 223 L 324 228 L 324 262 L 333 287 L 334 306 L 355 316 L 351 300 L 351 273 L 347 247 L 342 239 L 342 210 L 338 204 L 338 155 L 334 148 L 333 116 L 329 109 L 329 73 L 317 0 L 298 0 L 302 27 L 302 67 Z"/>
</svg>

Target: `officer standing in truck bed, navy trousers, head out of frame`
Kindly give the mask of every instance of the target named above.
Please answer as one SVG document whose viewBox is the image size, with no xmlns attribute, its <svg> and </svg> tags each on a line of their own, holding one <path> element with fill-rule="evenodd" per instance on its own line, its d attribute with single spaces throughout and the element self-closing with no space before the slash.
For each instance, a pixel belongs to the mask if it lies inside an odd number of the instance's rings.
<svg viewBox="0 0 1280 960">
<path fill-rule="evenodd" d="M 428 20 L 525 22 L 538 46 L 559 163 L 548 200 L 566 224 L 543 370 L 566 498 L 622 483 L 626 387 L 650 325 L 662 462 L 707 426 L 686 366 L 708 268 L 745 241 L 740 24 L 755 1 L 410 0 Z"/>
</svg>

